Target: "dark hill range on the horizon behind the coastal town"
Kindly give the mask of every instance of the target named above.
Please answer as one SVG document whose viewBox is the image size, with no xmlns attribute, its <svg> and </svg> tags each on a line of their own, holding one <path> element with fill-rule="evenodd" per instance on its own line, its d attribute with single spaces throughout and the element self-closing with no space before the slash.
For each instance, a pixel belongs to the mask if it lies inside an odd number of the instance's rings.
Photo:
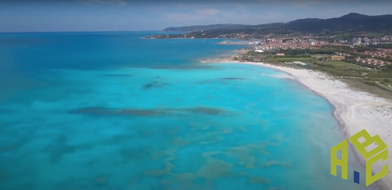
<svg viewBox="0 0 392 190">
<path fill-rule="evenodd" d="M 368 16 L 350 13 L 339 18 L 305 18 L 287 23 L 270 23 L 260 25 L 216 24 L 178 28 L 167 28 L 164 31 L 189 32 L 186 35 L 156 35 L 147 38 L 238 38 L 253 36 L 257 39 L 263 34 L 320 34 L 334 35 L 356 32 L 383 33 L 392 31 L 392 14 Z M 242 37 L 240 37 L 242 38 Z"/>
</svg>

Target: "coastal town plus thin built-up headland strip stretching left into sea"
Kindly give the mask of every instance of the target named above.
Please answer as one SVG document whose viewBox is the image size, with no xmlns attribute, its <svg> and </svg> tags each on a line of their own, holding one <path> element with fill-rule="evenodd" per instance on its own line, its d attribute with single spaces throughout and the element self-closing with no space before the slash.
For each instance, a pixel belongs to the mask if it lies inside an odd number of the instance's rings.
<svg viewBox="0 0 392 190">
<path fill-rule="evenodd" d="M 199 32 L 201 36 L 206 35 L 203 31 Z M 145 38 L 200 38 L 195 37 L 195 33 L 154 35 Z M 246 48 L 248 50 L 270 53 L 270 56 L 295 55 L 298 57 L 305 54 L 311 56 L 316 54 L 315 56 L 324 61 L 347 61 L 354 64 L 365 64 L 372 68 L 392 64 L 392 35 L 375 33 L 359 33 L 351 36 L 229 33 L 219 34 L 214 38 L 222 38 L 222 42 L 218 43 L 220 45 L 247 45 L 249 46 Z M 237 58 L 262 60 L 260 55 Z"/>
</svg>

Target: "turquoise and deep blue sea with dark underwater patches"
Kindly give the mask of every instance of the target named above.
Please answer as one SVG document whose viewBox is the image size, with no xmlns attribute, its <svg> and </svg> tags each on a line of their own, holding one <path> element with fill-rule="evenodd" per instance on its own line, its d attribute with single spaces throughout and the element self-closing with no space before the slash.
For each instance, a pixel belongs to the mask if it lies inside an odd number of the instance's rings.
<svg viewBox="0 0 392 190">
<path fill-rule="evenodd" d="M 350 149 L 348 180 L 330 174 L 325 99 L 198 62 L 242 46 L 155 33 L 0 34 L 1 190 L 377 189 Z"/>
</svg>

